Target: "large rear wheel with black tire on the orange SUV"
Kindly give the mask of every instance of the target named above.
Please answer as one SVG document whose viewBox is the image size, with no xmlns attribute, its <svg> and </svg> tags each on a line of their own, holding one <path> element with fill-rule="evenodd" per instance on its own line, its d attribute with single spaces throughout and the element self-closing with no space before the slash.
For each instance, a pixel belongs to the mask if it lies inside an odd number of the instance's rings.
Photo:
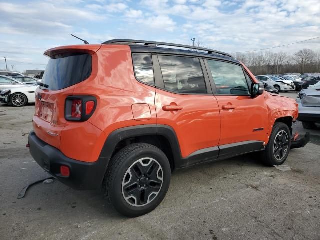
<svg viewBox="0 0 320 240">
<path fill-rule="evenodd" d="M 152 211 L 161 203 L 169 188 L 171 167 L 159 148 L 146 143 L 134 143 L 116 153 L 109 164 L 103 189 L 118 212 L 136 217 Z M 159 188 L 158 191 L 152 191 L 155 188 Z M 125 193 L 127 190 L 130 193 Z"/>
</svg>

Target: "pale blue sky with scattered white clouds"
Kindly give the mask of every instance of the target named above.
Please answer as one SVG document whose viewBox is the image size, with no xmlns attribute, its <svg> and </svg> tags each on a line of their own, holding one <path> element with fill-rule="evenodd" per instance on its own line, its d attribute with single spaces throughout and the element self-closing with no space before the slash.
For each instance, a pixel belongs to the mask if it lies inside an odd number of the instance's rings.
<svg viewBox="0 0 320 240">
<path fill-rule="evenodd" d="M 44 69 L 46 49 L 113 38 L 225 52 L 320 36 L 320 0 L 0 0 L 0 69 Z M 273 51 L 320 50 L 320 38 Z"/>
</svg>

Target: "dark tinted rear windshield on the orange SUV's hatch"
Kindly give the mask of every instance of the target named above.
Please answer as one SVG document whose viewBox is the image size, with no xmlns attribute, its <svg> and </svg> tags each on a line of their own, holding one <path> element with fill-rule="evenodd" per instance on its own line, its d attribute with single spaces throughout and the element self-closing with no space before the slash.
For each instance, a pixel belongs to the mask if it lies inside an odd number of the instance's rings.
<svg viewBox="0 0 320 240">
<path fill-rule="evenodd" d="M 60 90 L 81 81 L 91 75 L 92 57 L 87 53 L 63 53 L 50 58 L 42 83 L 47 90 Z"/>
</svg>

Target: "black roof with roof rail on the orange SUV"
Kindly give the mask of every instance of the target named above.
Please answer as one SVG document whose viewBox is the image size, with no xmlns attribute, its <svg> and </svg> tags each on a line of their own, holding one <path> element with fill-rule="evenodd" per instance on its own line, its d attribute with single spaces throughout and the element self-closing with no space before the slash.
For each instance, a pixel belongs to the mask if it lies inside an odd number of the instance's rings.
<svg viewBox="0 0 320 240">
<path fill-rule="evenodd" d="M 142 44 L 137 44 L 142 43 Z M 207 58 L 220 58 L 225 60 L 231 60 L 236 63 L 239 63 L 238 60 L 233 58 L 230 54 L 209 49 L 203 47 L 196 47 L 196 46 L 188 46 L 188 45 L 181 45 L 175 43 L 166 43 L 166 42 L 157 42 L 157 41 L 142 41 L 142 40 L 131 40 L 131 39 L 113 39 L 102 44 L 127 44 L 130 46 L 132 52 L 156 52 L 156 53 L 171 53 L 171 54 L 183 54 L 183 55 L 193 55 L 193 56 L 201 56 Z M 173 46 L 179 48 L 186 48 L 186 49 L 177 49 L 177 48 L 168 48 L 168 47 L 158 47 L 157 45 L 161 46 Z M 190 50 L 194 49 L 194 50 Z"/>
</svg>

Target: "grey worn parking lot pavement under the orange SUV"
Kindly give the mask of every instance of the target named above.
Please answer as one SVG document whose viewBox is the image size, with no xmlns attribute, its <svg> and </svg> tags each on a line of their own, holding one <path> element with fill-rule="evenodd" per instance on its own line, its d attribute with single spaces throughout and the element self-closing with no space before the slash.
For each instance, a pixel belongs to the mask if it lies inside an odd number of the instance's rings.
<svg viewBox="0 0 320 240">
<path fill-rule="evenodd" d="M 58 181 L 17 199 L 25 185 L 48 176 L 25 148 L 33 112 L 34 105 L 0 104 L 0 239 L 319 239 L 315 133 L 291 150 L 291 171 L 263 166 L 254 155 L 175 171 L 154 211 L 125 218 L 99 191 Z"/>
</svg>

